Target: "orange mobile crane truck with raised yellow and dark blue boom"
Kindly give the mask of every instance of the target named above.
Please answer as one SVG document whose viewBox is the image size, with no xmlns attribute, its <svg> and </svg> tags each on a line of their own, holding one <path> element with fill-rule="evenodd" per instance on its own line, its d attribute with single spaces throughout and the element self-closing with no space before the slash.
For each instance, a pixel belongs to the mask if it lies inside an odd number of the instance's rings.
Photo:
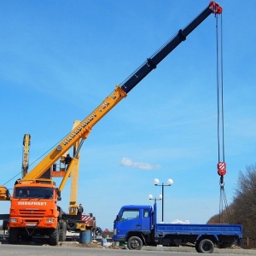
<svg viewBox="0 0 256 256">
<path fill-rule="evenodd" d="M 79 125 L 73 128 L 55 148 L 41 160 L 32 171 L 26 173 L 17 183 L 12 196 L 9 196 L 9 189 L 0 186 L 0 200 L 10 200 L 9 209 L 9 242 L 18 243 L 20 237 L 45 235 L 49 236 L 49 244 L 56 245 L 59 241 L 65 240 L 68 216 L 63 214 L 57 201 L 61 200 L 61 190 L 67 181 L 67 177 L 77 162 L 77 155 L 84 142 L 90 135 L 90 131 L 96 123 L 102 119 L 113 107 L 115 107 L 148 73 L 154 70 L 166 55 L 181 44 L 186 37 L 201 22 L 211 14 L 219 15 L 222 8 L 218 3 L 210 2 L 195 20 L 192 20 L 184 29 L 161 47 L 152 57 L 148 58 L 131 76 L 122 84 L 117 85 L 111 93 L 92 113 Z M 53 181 L 50 172 L 53 165 L 61 156 L 79 142 L 79 148 L 68 166 L 66 173 L 58 188 Z"/>
</svg>

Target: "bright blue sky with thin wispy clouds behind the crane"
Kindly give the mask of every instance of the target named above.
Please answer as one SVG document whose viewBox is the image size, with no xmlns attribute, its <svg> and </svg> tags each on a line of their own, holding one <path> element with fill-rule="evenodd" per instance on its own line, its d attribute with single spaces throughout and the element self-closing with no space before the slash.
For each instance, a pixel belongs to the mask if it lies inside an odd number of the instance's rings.
<svg viewBox="0 0 256 256">
<path fill-rule="evenodd" d="M 1 1 L 0 183 L 61 140 L 209 1 Z M 256 3 L 223 0 L 224 177 L 255 164 Z M 218 213 L 216 30 L 211 15 L 91 131 L 80 156 L 79 202 L 112 229 L 125 204 L 152 204 L 165 189 L 165 221 L 206 223 Z M 9 181 L 10 180 L 10 181 Z M 8 182 L 9 181 L 9 182 Z M 56 180 L 56 183 L 60 183 Z M 67 210 L 70 183 L 60 203 Z M 9 202 L 1 202 L 6 213 Z M 159 217 L 161 209 L 159 207 Z"/>
</svg>

